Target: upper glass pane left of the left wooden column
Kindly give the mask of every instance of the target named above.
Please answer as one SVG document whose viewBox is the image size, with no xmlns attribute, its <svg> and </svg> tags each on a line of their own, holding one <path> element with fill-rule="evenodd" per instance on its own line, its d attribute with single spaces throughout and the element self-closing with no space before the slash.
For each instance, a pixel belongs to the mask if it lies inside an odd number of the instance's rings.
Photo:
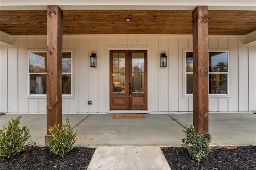
<svg viewBox="0 0 256 170">
<path fill-rule="evenodd" d="M 29 53 L 29 72 L 46 73 L 46 53 Z"/>
</svg>

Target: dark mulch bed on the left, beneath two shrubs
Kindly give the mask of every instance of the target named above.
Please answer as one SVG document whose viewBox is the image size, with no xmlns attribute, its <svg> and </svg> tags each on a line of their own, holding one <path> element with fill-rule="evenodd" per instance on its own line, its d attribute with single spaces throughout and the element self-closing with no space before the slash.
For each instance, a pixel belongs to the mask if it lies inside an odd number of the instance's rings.
<svg viewBox="0 0 256 170">
<path fill-rule="evenodd" d="M 0 170 L 86 170 L 95 148 L 74 147 L 61 156 L 50 152 L 49 146 L 27 146 L 20 155 L 0 158 Z"/>
</svg>

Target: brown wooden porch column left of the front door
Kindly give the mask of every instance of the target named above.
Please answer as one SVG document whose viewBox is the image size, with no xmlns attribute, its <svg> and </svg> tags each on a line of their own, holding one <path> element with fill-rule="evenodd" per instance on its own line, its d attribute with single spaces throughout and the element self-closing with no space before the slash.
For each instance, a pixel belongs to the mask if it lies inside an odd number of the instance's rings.
<svg viewBox="0 0 256 170">
<path fill-rule="evenodd" d="M 58 6 L 47 9 L 47 133 L 48 129 L 62 123 L 62 18 L 63 12 Z"/>
</svg>

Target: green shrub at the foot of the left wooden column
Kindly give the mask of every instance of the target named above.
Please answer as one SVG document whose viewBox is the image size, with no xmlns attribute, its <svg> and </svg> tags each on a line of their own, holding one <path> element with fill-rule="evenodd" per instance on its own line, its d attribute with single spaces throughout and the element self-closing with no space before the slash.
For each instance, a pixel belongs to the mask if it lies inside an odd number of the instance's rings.
<svg viewBox="0 0 256 170">
<path fill-rule="evenodd" d="M 51 139 L 46 138 L 50 145 L 50 151 L 54 154 L 64 156 L 74 148 L 73 144 L 76 142 L 76 132 L 73 132 L 70 127 L 70 122 L 66 119 L 65 124 L 58 124 L 49 129 Z"/>
</svg>

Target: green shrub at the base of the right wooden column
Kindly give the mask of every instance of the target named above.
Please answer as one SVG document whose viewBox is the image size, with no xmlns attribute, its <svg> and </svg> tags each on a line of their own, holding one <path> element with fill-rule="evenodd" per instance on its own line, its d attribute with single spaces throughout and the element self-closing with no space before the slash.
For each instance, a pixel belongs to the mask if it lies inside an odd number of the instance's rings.
<svg viewBox="0 0 256 170">
<path fill-rule="evenodd" d="M 200 162 L 203 158 L 206 158 L 207 154 L 211 152 L 212 148 L 209 146 L 212 140 L 211 135 L 206 133 L 204 135 L 196 134 L 195 127 L 186 125 L 186 138 L 183 138 L 182 146 L 188 149 L 190 157 Z"/>
</svg>

